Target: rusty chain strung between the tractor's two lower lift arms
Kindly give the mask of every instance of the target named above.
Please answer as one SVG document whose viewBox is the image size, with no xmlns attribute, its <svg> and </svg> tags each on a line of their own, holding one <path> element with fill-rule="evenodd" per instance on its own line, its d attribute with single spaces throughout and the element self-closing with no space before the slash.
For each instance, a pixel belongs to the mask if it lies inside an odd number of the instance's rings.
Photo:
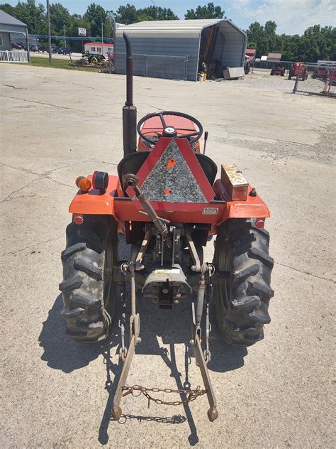
<svg viewBox="0 0 336 449">
<path fill-rule="evenodd" d="M 132 396 L 138 397 L 140 394 L 143 394 L 148 399 L 148 408 L 150 408 L 150 401 L 155 402 L 155 404 L 162 404 L 165 406 L 180 406 L 180 405 L 187 405 L 191 401 L 195 401 L 195 399 L 198 398 L 198 396 L 203 396 L 203 394 L 206 394 L 208 390 L 201 390 L 201 387 L 198 385 L 198 387 L 194 390 L 191 389 L 183 389 L 183 390 L 173 390 L 170 388 L 145 388 L 145 386 L 141 385 L 133 385 L 133 386 L 123 386 L 123 391 L 125 393 L 123 396 L 127 396 L 128 394 L 132 394 Z M 139 391 L 139 394 L 134 394 L 135 391 Z M 163 393 L 178 393 L 178 394 L 186 394 L 188 395 L 186 399 L 183 401 L 162 401 L 162 399 L 153 398 L 150 396 L 148 391 L 152 391 L 154 393 L 157 393 L 159 391 L 162 391 Z"/>
</svg>

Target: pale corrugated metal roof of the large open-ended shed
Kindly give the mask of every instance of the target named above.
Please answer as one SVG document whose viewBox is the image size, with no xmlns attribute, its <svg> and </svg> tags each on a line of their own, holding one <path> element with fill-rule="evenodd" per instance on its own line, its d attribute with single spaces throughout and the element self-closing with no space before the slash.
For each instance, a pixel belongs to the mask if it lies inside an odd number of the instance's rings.
<svg viewBox="0 0 336 449">
<path fill-rule="evenodd" d="M 116 35 L 121 36 L 126 31 L 129 36 L 142 38 L 198 38 L 203 28 L 215 25 L 220 22 L 228 22 L 242 34 L 232 21 L 225 18 L 207 18 L 197 20 L 178 20 L 178 21 L 144 21 L 132 23 L 131 25 L 120 26 L 116 30 Z"/>
</svg>

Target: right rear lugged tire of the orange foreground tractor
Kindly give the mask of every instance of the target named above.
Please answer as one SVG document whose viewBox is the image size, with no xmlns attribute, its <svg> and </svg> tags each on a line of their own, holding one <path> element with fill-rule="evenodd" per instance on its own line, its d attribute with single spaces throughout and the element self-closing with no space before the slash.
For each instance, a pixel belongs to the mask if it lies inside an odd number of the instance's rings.
<svg viewBox="0 0 336 449">
<path fill-rule="evenodd" d="M 215 282 L 215 317 L 224 340 L 231 345 L 250 346 L 262 340 L 264 324 L 270 322 L 274 262 L 269 256 L 269 233 L 257 228 L 255 221 L 228 220 L 215 240 L 216 269 L 230 271 L 230 278 Z"/>
</svg>

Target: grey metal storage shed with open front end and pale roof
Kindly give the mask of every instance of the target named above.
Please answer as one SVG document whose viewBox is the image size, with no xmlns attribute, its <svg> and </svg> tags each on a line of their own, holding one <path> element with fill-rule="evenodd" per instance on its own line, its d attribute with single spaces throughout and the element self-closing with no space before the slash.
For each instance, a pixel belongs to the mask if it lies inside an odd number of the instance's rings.
<svg viewBox="0 0 336 449">
<path fill-rule="evenodd" d="M 135 75 L 196 81 L 204 63 L 220 74 L 225 67 L 244 67 L 247 36 L 228 19 L 145 21 L 116 30 L 116 73 L 125 73 L 124 31 Z"/>
</svg>

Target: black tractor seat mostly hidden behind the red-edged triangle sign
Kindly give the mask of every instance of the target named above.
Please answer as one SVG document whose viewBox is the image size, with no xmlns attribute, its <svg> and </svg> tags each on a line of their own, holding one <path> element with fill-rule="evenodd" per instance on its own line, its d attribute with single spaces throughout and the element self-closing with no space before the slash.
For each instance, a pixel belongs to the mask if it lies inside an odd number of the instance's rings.
<svg viewBox="0 0 336 449">
<path fill-rule="evenodd" d="M 208 178 L 211 185 L 215 182 L 215 175 L 217 175 L 217 166 L 211 158 L 208 158 L 205 154 L 194 153 L 198 162 L 203 169 L 203 172 Z M 136 175 L 140 170 L 140 167 L 150 155 L 150 151 L 136 151 L 125 156 L 118 164 L 118 176 L 123 185 L 123 175 L 126 173 L 133 173 Z"/>
</svg>

